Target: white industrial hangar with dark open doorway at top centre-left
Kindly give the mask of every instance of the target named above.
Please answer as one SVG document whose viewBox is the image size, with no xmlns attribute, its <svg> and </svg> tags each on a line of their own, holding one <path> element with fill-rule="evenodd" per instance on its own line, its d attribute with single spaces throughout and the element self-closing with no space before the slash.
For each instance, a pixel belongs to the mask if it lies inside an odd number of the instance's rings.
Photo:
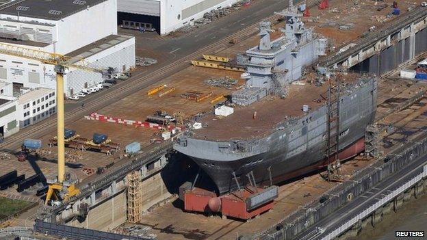
<svg viewBox="0 0 427 240">
<path fill-rule="evenodd" d="M 224 8 L 240 0 L 117 0 L 118 12 L 125 13 L 119 20 L 153 21 L 157 18 L 160 34 L 168 34 L 190 24 L 205 12 Z M 144 16 L 147 16 L 144 18 Z M 153 27 L 158 27 L 156 23 Z"/>
</svg>

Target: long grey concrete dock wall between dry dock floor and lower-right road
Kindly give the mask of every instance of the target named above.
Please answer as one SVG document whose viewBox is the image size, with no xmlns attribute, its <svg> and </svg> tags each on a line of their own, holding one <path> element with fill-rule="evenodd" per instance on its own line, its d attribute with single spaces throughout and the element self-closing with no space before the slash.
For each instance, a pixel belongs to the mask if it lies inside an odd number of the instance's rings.
<svg viewBox="0 0 427 240">
<path fill-rule="evenodd" d="M 320 219 L 326 217 L 326 215 L 337 210 L 339 207 L 344 206 L 344 204 L 350 202 L 352 198 L 363 194 L 377 183 L 380 183 L 380 181 L 391 176 L 391 174 L 413 163 L 413 161 L 419 159 L 419 157 L 427 155 L 427 135 L 423 135 L 417 138 L 417 141 L 402 146 L 402 148 L 396 152 L 400 152 L 400 155 L 387 155 L 387 157 L 379 159 L 372 165 L 367 166 L 367 168 L 363 168 L 363 170 L 356 172 L 351 181 L 346 181 L 341 185 L 337 185 L 322 197 L 315 199 L 304 208 L 298 209 L 291 215 L 285 217 L 285 219 L 281 219 L 274 226 L 271 226 L 267 230 L 249 239 L 294 239 L 300 232 L 303 232 L 315 222 L 320 221 Z M 395 195 L 390 197 L 390 199 L 396 198 L 396 196 L 398 197 L 402 191 L 409 189 L 412 185 L 421 181 L 422 178 L 425 178 L 425 176 L 417 177 L 418 178 L 412 182 L 408 182 L 407 185 L 404 185 L 405 187 L 402 186 L 402 188 L 396 191 Z M 383 202 L 383 204 L 385 203 L 386 202 Z M 380 206 L 382 205 L 372 209 L 378 209 Z M 372 213 L 372 209 L 370 209 L 370 213 Z M 354 222 L 352 224 L 354 224 Z M 344 228 L 348 229 L 350 226 L 351 225 L 343 227 L 341 230 Z M 337 232 L 340 232 L 340 230 Z M 335 232 L 335 234 L 337 234 L 337 232 Z"/>
</svg>

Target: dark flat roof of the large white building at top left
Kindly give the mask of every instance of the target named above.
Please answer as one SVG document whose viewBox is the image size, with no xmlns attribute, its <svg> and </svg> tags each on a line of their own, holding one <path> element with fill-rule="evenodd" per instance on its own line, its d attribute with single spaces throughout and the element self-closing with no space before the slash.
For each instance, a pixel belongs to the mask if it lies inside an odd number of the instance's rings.
<svg viewBox="0 0 427 240">
<path fill-rule="evenodd" d="M 0 14 L 60 20 L 107 0 L 16 0 L 0 6 Z"/>
</svg>

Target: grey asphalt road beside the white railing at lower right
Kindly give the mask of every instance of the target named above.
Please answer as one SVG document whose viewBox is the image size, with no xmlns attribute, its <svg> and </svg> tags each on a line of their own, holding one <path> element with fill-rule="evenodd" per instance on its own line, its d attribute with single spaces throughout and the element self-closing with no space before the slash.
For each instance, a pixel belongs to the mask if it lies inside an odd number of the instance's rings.
<svg viewBox="0 0 427 240">
<path fill-rule="evenodd" d="M 378 200 L 386 196 L 409 181 L 411 178 L 420 174 L 423 171 L 424 165 L 427 163 L 427 155 L 420 157 L 417 161 L 400 170 L 396 174 L 389 176 L 385 181 L 382 181 L 364 194 L 357 196 L 347 204 L 341 207 L 334 213 L 331 213 L 320 222 L 317 222 L 305 232 L 300 233 L 296 239 L 300 240 L 316 240 L 322 239 L 330 232 L 339 228 L 344 222 L 349 221 L 352 217 L 358 215 L 361 211 L 375 204 Z"/>
</svg>

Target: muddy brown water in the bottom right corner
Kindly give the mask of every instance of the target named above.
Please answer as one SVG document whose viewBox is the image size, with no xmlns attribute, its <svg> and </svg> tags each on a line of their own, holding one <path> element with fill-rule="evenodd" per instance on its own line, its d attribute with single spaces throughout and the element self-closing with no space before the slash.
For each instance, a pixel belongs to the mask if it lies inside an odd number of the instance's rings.
<svg viewBox="0 0 427 240">
<path fill-rule="evenodd" d="M 395 237 L 399 230 L 424 230 L 424 237 Z M 358 240 L 389 240 L 389 239 L 427 239 L 427 194 L 411 202 L 405 203 L 397 213 L 386 215 L 375 228 L 368 226 L 362 230 Z"/>
</svg>

